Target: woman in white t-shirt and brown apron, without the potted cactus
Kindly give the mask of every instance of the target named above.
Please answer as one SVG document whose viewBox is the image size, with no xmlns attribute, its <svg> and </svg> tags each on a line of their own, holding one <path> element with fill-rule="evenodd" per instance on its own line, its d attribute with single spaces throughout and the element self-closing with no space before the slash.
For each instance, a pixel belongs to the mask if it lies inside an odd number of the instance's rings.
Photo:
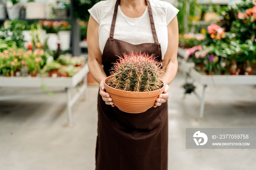
<svg viewBox="0 0 256 170">
<path fill-rule="evenodd" d="M 96 170 L 167 170 L 166 100 L 178 67 L 178 9 L 158 0 L 106 0 L 89 12 L 88 66 L 100 87 Z M 131 51 L 155 54 L 166 73 L 164 92 L 139 114 L 114 107 L 103 83 L 117 56 Z"/>
</svg>

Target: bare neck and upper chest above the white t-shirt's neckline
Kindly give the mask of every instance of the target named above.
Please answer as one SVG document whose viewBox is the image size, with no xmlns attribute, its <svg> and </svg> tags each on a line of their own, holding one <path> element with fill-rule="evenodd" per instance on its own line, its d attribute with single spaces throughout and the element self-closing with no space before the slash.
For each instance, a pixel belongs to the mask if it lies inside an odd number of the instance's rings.
<svg viewBox="0 0 256 170">
<path fill-rule="evenodd" d="M 138 18 L 144 13 L 147 2 L 146 0 L 120 0 L 119 5 L 124 15 Z"/>
</svg>

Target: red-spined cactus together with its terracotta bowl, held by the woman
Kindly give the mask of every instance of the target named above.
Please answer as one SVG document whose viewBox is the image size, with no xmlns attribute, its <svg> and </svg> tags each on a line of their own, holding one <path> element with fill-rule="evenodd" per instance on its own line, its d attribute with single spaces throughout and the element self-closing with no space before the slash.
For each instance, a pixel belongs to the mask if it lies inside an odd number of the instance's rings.
<svg viewBox="0 0 256 170">
<path fill-rule="evenodd" d="M 161 63 L 153 55 L 124 54 L 105 79 L 105 89 L 121 111 L 142 113 L 153 107 L 163 92 L 162 73 Z"/>
</svg>

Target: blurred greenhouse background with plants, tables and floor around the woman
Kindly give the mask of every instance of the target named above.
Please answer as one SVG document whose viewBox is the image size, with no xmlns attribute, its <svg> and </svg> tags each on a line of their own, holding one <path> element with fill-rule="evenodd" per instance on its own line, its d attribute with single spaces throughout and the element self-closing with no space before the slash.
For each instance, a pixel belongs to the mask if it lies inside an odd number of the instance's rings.
<svg viewBox="0 0 256 170">
<path fill-rule="evenodd" d="M 99 0 L 0 0 L 0 169 L 93 170 L 99 85 L 87 24 Z M 189 149 L 186 128 L 256 128 L 256 2 L 178 8 L 168 169 L 252 170 L 254 149 Z"/>
</svg>

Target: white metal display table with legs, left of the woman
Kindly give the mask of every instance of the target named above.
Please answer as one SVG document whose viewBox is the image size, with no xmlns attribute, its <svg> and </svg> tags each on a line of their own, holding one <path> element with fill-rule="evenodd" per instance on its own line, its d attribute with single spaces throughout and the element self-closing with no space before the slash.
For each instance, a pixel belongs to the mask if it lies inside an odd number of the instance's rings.
<svg viewBox="0 0 256 170">
<path fill-rule="evenodd" d="M 89 68 L 87 63 L 73 77 L 4 77 L 0 76 L 0 87 L 19 87 L 19 88 L 64 88 L 64 90 L 54 91 L 54 93 L 67 93 L 67 116 L 68 125 L 72 125 L 71 108 L 81 96 L 87 95 L 87 73 Z M 79 86 L 79 83 L 83 84 Z M 78 88 L 75 96 L 71 98 L 71 89 Z M 26 93 L 26 94 L 9 94 L 0 96 L 1 100 L 11 100 L 22 97 L 29 97 L 40 94 L 48 94 L 48 92 Z"/>
</svg>

